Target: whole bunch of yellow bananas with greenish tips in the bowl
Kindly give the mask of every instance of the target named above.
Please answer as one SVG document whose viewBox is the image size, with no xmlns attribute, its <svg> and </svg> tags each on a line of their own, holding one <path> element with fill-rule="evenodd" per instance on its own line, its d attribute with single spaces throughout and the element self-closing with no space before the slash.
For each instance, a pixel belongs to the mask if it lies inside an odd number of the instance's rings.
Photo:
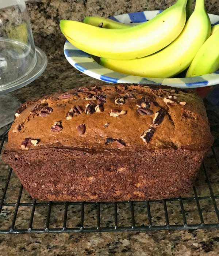
<svg viewBox="0 0 219 256">
<path fill-rule="evenodd" d="M 190 66 L 187 77 L 204 75 L 219 68 L 219 25 L 211 29 L 204 0 L 196 0 L 193 12 L 192 3 L 178 0 L 136 26 L 85 17 L 84 24 L 62 20 L 60 27 L 69 42 L 101 57 L 100 64 L 114 71 L 170 78 Z"/>
</svg>

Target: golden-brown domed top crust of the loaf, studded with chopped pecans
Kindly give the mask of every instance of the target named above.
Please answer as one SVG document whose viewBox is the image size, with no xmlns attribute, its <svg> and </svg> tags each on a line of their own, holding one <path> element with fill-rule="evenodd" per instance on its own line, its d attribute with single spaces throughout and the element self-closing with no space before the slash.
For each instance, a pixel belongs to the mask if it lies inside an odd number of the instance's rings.
<svg viewBox="0 0 219 256">
<path fill-rule="evenodd" d="M 200 151 L 213 142 L 203 101 L 178 89 L 139 84 L 83 87 L 25 106 L 9 131 L 6 151 L 47 147 Z"/>
</svg>

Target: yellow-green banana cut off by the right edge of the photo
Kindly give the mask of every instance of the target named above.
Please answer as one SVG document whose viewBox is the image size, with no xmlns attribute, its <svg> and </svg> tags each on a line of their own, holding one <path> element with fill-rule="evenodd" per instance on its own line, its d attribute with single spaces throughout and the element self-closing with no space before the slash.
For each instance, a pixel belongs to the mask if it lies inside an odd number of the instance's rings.
<svg viewBox="0 0 219 256">
<path fill-rule="evenodd" d="M 219 30 L 201 46 L 190 65 L 186 77 L 201 76 L 219 69 Z"/>
</svg>

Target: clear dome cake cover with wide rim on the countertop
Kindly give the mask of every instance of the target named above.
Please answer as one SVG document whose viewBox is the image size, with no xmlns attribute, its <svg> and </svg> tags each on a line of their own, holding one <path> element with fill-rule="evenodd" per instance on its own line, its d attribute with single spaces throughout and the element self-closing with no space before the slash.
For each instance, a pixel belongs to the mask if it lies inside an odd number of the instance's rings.
<svg viewBox="0 0 219 256">
<path fill-rule="evenodd" d="M 24 0 L 0 0 L 0 93 L 36 79 L 46 64 L 45 54 L 35 49 Z"/>
</svg>

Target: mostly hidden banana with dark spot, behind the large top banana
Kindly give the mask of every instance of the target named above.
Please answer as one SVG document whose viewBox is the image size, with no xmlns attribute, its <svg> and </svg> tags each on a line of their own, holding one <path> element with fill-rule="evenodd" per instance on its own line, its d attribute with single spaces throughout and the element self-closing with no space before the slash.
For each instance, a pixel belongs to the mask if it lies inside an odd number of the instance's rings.
<svg viewBox="0 0 219 256">
<path fill-rule="evenodd" d="M 102 17 L 89 17 L 86 16 L 84 18 L 84 23 L 98 27 L 101 23 L 103 23 L 103 29 L 126 29 L 127 27 L 132 27 L 130 24 L 124 24 L 112 19 L 106 19 Z"/>
</svg>

